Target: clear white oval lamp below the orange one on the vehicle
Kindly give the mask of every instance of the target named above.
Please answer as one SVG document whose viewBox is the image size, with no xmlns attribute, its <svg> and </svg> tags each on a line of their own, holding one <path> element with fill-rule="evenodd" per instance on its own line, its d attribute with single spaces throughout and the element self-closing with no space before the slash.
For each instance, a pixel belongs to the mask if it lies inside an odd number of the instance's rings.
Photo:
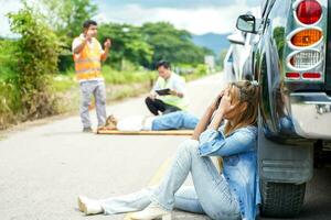
<svg viewBox="0 0 331 220">
<path fill-rule="evenodd" d="M 289 63 L 296 69 L 310 69 L 321 62 L 321 53 L 317 51 L 302 51 L 290 56 Z"/>
</svg>

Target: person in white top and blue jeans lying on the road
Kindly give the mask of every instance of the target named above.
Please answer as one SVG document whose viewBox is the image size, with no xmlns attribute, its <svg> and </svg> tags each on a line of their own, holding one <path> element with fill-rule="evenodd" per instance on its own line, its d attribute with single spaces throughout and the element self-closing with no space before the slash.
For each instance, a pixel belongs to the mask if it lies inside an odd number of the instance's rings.
<svg viewBox="0 0 331 220">
<path fill-rule="evenodd" d="M 171 112 L 158 117 L 134 116 L 117 119 L 113 114 L 107 118 L 104 130 L 117 131 L 164 131 L 194 130 L 199 119 L 185 111 Z"/>
</svg>

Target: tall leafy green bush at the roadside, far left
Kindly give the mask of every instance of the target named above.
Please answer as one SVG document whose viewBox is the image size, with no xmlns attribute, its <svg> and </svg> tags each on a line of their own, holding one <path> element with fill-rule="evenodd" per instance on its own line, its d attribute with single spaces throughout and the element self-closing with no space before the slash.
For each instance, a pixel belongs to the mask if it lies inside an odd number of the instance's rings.
<svg viewBox="0 0 331 220">
<path fill-rule="evenodd" d="M 57 72 L 58 42 L 53 31 L 25 1 L 17 13 L 10 13 L 10 26 L 18 40 L 18 87 L 23 114 L 42 118 L 55 113 L 52 75 Z"/>
</svg>

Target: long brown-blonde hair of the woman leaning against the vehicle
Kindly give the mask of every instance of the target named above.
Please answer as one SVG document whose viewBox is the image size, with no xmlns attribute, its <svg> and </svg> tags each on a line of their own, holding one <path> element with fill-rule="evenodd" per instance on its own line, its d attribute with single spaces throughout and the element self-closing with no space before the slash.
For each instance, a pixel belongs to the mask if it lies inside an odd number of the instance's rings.
<svg viewBox="0 0 331 220">
<path fill-rule="evenodd" d="M 226 122 L 224 134 L 229 135 L 233 131 L 248 125 L 257 125 L 259 86 L 257 81 L 236 81 L 228 85 L 232 103 L 236 105 L 234 113 L 236 116 L 229 122 Z M 220 157 L 218 166 L 222 170 L 223 160 Z"/>
</svg>

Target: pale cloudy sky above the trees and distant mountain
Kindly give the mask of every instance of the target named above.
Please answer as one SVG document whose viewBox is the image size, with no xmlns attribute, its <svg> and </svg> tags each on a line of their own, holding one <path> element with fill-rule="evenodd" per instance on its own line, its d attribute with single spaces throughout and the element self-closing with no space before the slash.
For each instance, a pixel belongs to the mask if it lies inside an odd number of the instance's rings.
<svg viewBox="0 0 331 220">
<path fill-rule="evenodd" d="M 92 0 L 98 6 L 98 23 L 119 22 L 140 25 L 168 21 L 193 34 L 231 33 L 239 14 L 256 12 L 260 0 Z M 20 0 L 0 0 L 0 35 L 11 36 L 9 12 L 18 11 Z"/>
</svg>

